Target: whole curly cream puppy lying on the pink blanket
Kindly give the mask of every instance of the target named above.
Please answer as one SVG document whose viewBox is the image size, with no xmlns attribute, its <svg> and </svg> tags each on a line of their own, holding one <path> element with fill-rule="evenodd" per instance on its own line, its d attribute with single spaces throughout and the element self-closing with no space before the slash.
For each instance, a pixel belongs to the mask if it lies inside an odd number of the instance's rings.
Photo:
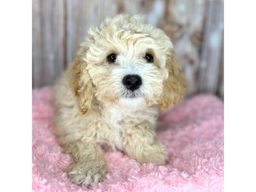
<svg viewBox="0 0 256 192">
<path fill-rule="evenodd" d="M 170 39 L 144 17 L 117 15 L 91 27 L 54 88 L 55 134 L 73 158 L 71 180 L 104 179 L 101 145 L 139 163 L 165 164 L 168 151 L 155 134 L 159 108 L 172 107 L 184 92 Z"/>
</svg>

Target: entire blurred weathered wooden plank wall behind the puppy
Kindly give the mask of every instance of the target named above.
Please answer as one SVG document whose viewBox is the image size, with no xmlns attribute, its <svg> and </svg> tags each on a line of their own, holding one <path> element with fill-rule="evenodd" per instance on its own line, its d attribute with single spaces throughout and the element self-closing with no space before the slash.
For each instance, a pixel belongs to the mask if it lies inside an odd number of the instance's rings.
<svg viewBox="0 0 256 192">
<path fill-rule="evenodd" d="M 186 96 L 224 99 L 223 0 L 33 0 L 33 88 L 54 83 L 90 26 L 122 13 L 146 15 L 166 32 L 188 80 Z"/>
</svg>

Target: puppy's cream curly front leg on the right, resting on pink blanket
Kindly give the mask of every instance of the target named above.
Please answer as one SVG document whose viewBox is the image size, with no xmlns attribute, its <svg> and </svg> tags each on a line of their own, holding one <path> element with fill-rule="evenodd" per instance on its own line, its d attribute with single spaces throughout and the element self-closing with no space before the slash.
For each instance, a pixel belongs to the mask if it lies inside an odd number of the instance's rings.
<svg viewBox="0 0 256 192">
<path fill-rule="evenodd" d="M 168 159 L 166 147 L 147 123 L 127 128 L 122 141 L 128 156 L 140 163 L 164 165 Z"/>
</svg>

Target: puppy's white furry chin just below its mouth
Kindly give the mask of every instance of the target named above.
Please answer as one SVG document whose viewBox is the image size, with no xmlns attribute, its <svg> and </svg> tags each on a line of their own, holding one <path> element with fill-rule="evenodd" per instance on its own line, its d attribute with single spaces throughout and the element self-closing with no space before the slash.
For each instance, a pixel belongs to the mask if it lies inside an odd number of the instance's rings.
<svg viewBox="0 0 256 192">
<path fill-rule="evenodd" d="M 120 97 L 118 100 L 118 108 L 122 111 L 138 111 L 140 109 L 145 108 L 146 100 L 140 97 Z"/>
</svg>

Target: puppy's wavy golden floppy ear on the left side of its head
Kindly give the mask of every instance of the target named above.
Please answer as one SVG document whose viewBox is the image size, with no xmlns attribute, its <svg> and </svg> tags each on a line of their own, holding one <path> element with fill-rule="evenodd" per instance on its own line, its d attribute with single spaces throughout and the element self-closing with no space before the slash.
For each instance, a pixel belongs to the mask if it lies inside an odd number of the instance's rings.
<svg viewBox="0 0 256 192">
<path fill-rule="evenodd" d="M 79 105 L 80 113 L 87 113 L 91 109 L 93 101 L 93 85 L 86 69 L 87 63 L 83 60 L 85 49 L 80 49 L 77 58 L 70 65 L 70 86 L 72 87 Z"/>
</svg>

